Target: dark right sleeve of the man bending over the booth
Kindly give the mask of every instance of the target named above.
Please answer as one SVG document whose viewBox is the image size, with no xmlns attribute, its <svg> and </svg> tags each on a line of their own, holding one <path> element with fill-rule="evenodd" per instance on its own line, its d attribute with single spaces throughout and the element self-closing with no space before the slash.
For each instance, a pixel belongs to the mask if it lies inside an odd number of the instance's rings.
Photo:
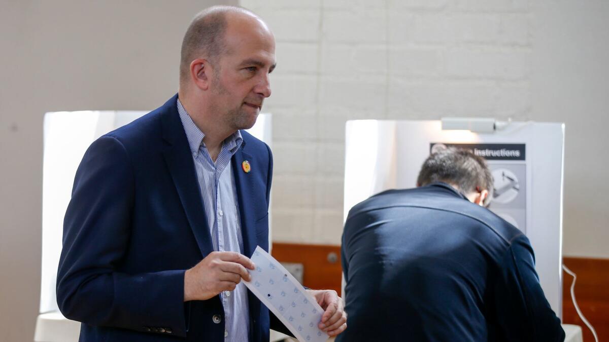
<svg viewBox="0 0 609 342">
<path fill-rule="evenodd" d="M 494 289 L 495 317 L 506 341 L 564 341 L 560 319 L 547 302 L 529 239 L 512 241 Z"/>
</svg>

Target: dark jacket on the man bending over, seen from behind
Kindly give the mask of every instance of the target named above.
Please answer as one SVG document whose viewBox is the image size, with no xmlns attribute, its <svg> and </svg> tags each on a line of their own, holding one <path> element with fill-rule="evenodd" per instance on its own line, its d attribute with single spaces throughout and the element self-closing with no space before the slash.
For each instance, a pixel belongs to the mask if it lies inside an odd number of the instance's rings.
<svg viewBox="0 0 609 342">
<path fill-rule="evenodd" d="M 349 327 L 337 342 L 565 338 L 527 237 L 448 184 L 354 206 L 342 262 Z"/>
</svg>

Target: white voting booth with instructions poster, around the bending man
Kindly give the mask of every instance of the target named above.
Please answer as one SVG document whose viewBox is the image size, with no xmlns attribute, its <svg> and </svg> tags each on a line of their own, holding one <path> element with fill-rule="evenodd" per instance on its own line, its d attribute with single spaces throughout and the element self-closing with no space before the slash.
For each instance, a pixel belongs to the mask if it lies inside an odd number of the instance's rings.
<svg viewBox="0 0 609 342">
<path fill-rule="evenodd" d="M 512 122 L 494 133 L 442 130 L 440 120 L 351 120 L 345 145 L 345 212 L 386 189 L 415 187 L 433 148 L 451 145 L 487 158 L 490 208 L 532 243 L 541 287 L 562 314 L 563 146 L 560 123 Z"/>
</svg>

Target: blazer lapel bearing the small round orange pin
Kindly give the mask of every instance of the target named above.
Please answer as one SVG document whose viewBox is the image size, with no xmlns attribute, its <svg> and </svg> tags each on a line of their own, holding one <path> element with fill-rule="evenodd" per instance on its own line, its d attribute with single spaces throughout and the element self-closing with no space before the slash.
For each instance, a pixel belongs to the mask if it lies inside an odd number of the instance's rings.
<svg viewBox="0 0 609 342">
<path fill-rule="evenodd" d="M 253 196 L 253 180 L 252 170 L 250 173 L 245 173 L 242 169 L 244 161 L 252 161 L 252 157 L 243 152 L 243 145 L 234 153 L 231 162 L 233 163 L 234 183 L 237 190 L 237 198 L 239 201 L 239 217 L 241 218 L 241 236 L 243 238 L 243 254 L 247 257 L 252 256 L 256 248 L 256 231 L 254 227 L 254 215 L 252 204 L 249 202 L 256 198 Z"/>
</svg>

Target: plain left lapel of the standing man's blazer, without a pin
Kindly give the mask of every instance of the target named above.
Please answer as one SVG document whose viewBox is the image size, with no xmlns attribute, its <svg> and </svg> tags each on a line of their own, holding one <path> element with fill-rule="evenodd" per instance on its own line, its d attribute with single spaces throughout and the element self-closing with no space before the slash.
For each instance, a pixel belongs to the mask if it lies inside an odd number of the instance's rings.
<svg viewBox="0 0 609 342">
<path fill-rule="evenodd" d="M 177 111 L 177 97 L 174 97 L 171 108 L 163 114 L 163 139 L 171 146 L 163 151 L 163 156 L 174 181 L 175 189 L 197 240 L 203 257 L 213 252 L 211 233 L 203 209 L 199 183 L 195 176 L 194 162 L 186 139 L 186 133 Z M 170 100 L 171 102 L 171 100 Z M 171 105 L 171 103 L 167 102 Z"/>
</svg>

